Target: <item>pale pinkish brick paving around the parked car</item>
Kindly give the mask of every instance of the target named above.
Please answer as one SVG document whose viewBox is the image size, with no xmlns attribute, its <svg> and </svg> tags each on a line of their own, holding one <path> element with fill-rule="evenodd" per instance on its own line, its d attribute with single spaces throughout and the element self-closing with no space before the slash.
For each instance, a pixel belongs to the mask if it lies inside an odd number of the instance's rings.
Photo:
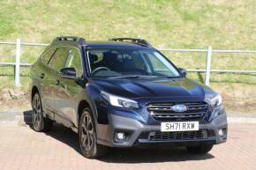
<svg viewBox="0 0 256 170">
<path fill-rule="evenodd" d="M 55 125 L 49 133 L 28 126 L 0 123 L 0 170 L 125 170 L 125 169 L 256 169 L 256 124 L 233 123 L 226 144 L 215 145 L 207 155 L 184 149 L 113 150 L 105 159 L 85 159 L 78 137 Z"/>
</svg>

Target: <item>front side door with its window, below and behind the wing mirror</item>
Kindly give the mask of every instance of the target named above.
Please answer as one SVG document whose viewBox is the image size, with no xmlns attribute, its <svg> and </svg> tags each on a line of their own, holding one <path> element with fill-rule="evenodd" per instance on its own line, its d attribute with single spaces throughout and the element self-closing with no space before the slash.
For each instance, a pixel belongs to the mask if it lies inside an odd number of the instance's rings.
<svg viewBox="0 0 256 170">
<path fill-rule="evenodd" d="M 74 68 L 77 78 L 82 77 L 83 68 L 79 48 L 68 49 L 64 68 Z M 70 127 L 77 121 L 78 102 L 76 100 L 83 89 L 71 78 L 62 78 L 58 75 L 56 81 L 59 83 L 55 91 L 56 115 L 61 116 L 64 124 Z"/>
</svg>

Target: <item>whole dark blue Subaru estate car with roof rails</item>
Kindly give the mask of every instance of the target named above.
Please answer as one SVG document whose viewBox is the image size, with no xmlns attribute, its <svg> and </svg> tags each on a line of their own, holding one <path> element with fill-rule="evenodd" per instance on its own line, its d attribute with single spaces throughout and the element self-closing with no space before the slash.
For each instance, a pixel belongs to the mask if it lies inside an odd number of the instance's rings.
<svg viewBox="0 0 256 170">
<path fill-rule="evenodd" d="M 34 130 L 71 128 L 86 158 L 163 144 L 204 154 L 227 140 L 221 95 L 143 39 L 56 37 L 30 77 Z"/>
</svg>

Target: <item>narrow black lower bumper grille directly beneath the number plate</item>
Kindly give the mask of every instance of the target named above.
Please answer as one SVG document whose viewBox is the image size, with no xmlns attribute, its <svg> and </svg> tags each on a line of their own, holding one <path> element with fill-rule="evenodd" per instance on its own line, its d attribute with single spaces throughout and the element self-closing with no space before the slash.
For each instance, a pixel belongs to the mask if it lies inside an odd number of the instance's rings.
<svg viewBox="0 0 256 170">
<path fill-rule="evenodd" d="M 196 140 L 207 138 L 207 130 L 176 131 L 176 132 L 149 132 L 149 141 Z"/>
</svg>

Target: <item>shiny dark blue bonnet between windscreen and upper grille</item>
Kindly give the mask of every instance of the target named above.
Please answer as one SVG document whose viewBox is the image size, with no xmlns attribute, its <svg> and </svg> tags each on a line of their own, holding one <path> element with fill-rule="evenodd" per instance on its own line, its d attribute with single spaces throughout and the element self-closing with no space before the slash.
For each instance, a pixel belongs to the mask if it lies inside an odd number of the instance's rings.
<svg viewBox="0 0 256 170">
<path fill-rule="evenodd" d="M 102 91 L 130 99 L 192 97 L 204 100 L 205 93 L 211 91 L 188 78 L 106 78 L 94 80 L 94 85 Z"/>
</svg>

